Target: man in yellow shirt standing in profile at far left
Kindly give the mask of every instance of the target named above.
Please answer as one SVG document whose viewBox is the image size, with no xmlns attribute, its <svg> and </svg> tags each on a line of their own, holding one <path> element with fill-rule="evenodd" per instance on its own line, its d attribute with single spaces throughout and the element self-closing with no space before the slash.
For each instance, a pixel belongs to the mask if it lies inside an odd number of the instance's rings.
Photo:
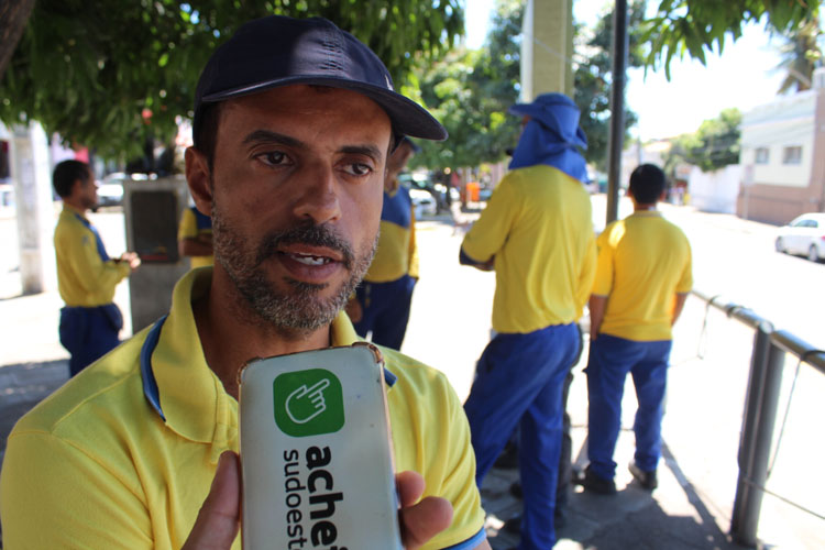
<svg viewBox="0 0 825 550">
<path fill-rule="evenodd" d="M 61 343 L 72 354 L 69 375 L 74 376 L 120 343 L 123 317 L 112 302 L 114 287 L 141 261 L 134 252 L 110 258 L 86 218 L 97 205 L 95 175 L 86 163 L 63 161 L 55 166 L 52 183 L 63 199 L 54 232 L 57 288 L 66 304 L 61 309 Z"/>
</svg>

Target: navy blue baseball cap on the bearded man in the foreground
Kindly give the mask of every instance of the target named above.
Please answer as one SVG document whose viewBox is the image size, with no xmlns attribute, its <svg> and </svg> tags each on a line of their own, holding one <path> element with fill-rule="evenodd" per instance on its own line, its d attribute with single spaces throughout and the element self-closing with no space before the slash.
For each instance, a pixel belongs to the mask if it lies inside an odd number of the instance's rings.
<svg viewBox="0 0 825 550">
<path fill-rule="evenodd" d="M 210 103 L 296 84 L 363 94 L 386 111 L 397 140 L 447 139 L 444 127 L 426 109 L 395 91 L 378 56 L 352 34 L 326 19 L 283 15 L 244 23 L 215 51 L 195 92 L 195 139 Z"/>
</svg>

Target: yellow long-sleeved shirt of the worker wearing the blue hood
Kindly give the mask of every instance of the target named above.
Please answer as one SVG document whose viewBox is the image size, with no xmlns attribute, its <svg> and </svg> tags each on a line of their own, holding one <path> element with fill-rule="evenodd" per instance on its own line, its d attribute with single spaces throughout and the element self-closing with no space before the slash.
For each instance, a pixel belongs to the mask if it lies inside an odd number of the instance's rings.
<svg viewBox="0 0 825 550">
<path fill-rule="evenodd" d="M 497 332 L 573 322 L 595 276 L 590 195 L 551 166 L 515 169 L 495 188 L 461 248 L 477 262 L 495 255 Z"/>
</svg>

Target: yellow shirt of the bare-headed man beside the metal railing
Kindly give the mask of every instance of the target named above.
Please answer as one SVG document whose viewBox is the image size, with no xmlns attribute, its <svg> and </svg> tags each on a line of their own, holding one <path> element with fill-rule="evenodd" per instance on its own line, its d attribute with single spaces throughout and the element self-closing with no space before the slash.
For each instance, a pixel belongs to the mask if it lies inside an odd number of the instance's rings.
<svg viewBox="0 0 825 550">
<path fill-rule="evenodd" d="M 691 245 L 658 211 L 638 211 L 598 235 L 593 294 L 606 296 L 600 333 L 649 342 L 670 340 L 673 301 L 693 286 Z"/>
</svg>

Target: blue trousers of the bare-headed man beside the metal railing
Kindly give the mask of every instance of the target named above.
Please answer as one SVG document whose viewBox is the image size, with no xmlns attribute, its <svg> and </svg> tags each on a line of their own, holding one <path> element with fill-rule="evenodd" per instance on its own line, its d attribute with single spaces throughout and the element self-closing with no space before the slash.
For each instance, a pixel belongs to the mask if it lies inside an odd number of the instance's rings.
<svg viewBox="0 0 825 550">
<path fill-rule="evenodd" d="M 636 342 L 600 334 L 590 344 L 587 361 L 587 458 L 591 471 L 604 480 L 616 475 L 616 450 L 622 427 L 622 397 L 625 378 L 632 375 L 636 398 L 634 433 L 636 465 L 656 470 L 661 457 L 661 428 L 664 391 L 670 359 L 670 340 Z"/>
</svg>

